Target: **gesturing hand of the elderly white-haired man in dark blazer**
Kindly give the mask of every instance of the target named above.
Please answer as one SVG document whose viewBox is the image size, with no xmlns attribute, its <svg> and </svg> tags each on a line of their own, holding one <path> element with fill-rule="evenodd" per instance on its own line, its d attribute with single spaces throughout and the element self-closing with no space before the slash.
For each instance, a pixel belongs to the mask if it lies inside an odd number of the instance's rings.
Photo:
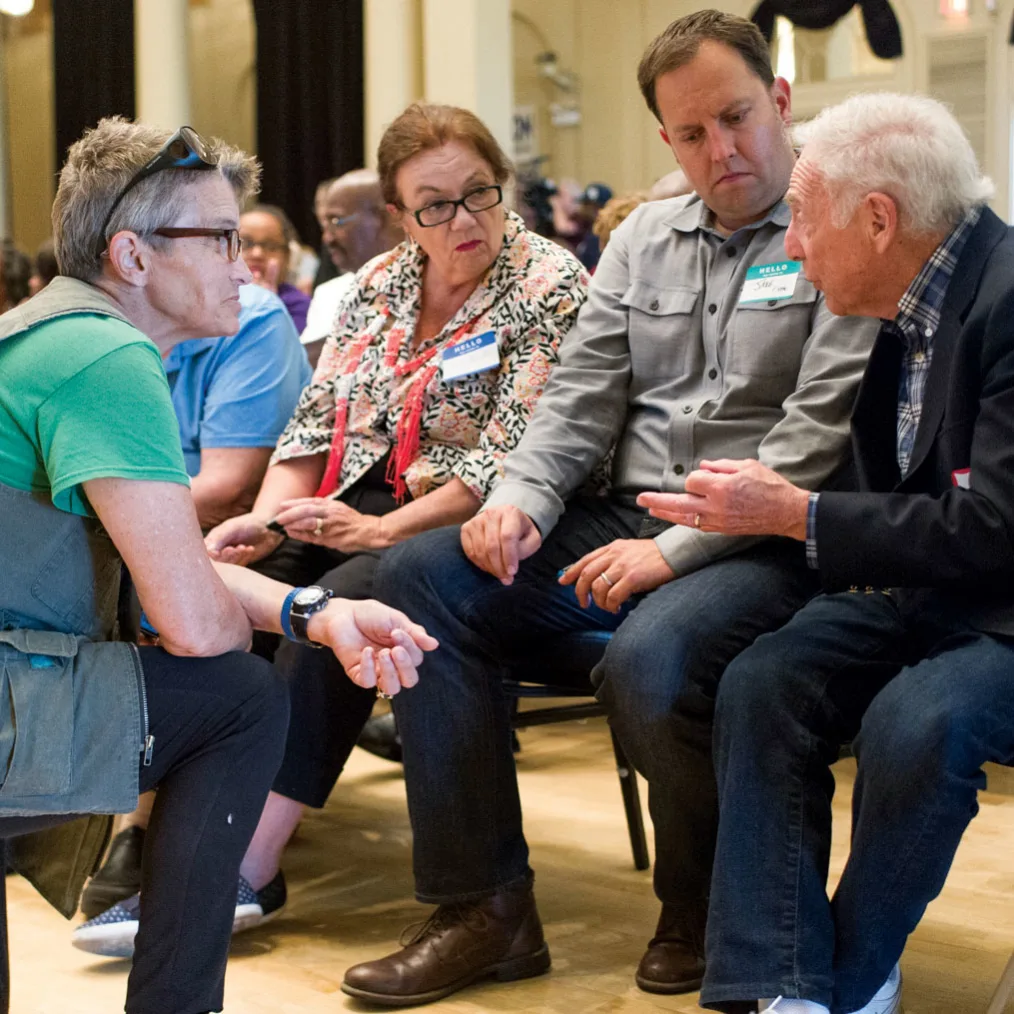
<svg viewBox="0 0 1014 1014">
<path fill-rule="evenodd" d="M 652 517 L 726 535 L 806 538 L 809 492 L 759 461 L 702 461 L 685 493 L 642 493 Z"/>
</svg>

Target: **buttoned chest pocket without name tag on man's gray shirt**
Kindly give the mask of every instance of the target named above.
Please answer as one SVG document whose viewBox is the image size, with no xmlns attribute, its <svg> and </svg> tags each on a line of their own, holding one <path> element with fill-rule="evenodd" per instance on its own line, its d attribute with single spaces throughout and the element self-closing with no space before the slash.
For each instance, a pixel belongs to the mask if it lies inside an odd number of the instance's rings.
<svg viewBox="0 0 1014 1014">
<path fill-rule="evenodd" d="M 660 288 L 634 279 L 621 303 L 627 308 L 631 367 L 635 377 L 679 376 L 692 341 L 701 333 L 700 292 L 687 286 Z"/>
</svg>

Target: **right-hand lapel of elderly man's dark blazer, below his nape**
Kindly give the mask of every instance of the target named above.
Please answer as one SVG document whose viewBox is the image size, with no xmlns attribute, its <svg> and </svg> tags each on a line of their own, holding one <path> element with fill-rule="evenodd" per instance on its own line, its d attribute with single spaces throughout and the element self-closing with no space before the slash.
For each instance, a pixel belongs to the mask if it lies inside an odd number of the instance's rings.
<svg viewBox="0 0 1014 1014">
<path fill-rule="evenodd" d="M 926 378 L 923 413 L 916 430 L 916 442 L 909 464 L 910 476 L 926 460 L 936 440 L 947 404 L 951 363 L 961 334 L 964 313 L 979 290 L 979 280 L 986 259 L 1006 233 L 1007 226 L 989 208 L 984 208 L 983 216 L 968 236 L 947 286 L 947 295 L 940 313 L 940 327 L 933 336 L 933 361 L 930 364 L 930 375 Z"/>
</svg>

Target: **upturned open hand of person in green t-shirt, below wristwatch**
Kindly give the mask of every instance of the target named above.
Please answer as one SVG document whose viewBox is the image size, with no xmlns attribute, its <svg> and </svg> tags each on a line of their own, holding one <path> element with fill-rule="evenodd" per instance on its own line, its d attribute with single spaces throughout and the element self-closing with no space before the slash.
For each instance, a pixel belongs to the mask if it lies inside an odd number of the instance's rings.
<svg viewBox="0 0 1014 1014">
<path fill-rule="evenodd" d="M 419 682 L 417 666 L 423 653 L 439 647 L 436 638 L 404 612 L 371 598 L 333 598 L 310 617 L 306 633 L 335 652 L 354 683 L 375 686 L 390 697 Z"/>
</svg>

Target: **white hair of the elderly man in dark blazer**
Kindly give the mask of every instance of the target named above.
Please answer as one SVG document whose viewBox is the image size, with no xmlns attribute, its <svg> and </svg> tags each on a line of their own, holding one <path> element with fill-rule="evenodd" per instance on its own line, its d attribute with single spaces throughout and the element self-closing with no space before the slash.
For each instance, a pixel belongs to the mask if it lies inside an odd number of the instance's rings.
<svg viewBox="0 0 1014 1014">
<path fill-rule="evenodd" d="M 925 95 L 853 95 L 799 126 L 796 139 L 801 160 L 827 184 L 837 228 L 873 192 L 892 198 L 902 225 L 919 234 L 949 231 L 993 196 L 960 124 Z"/>
</svg>

